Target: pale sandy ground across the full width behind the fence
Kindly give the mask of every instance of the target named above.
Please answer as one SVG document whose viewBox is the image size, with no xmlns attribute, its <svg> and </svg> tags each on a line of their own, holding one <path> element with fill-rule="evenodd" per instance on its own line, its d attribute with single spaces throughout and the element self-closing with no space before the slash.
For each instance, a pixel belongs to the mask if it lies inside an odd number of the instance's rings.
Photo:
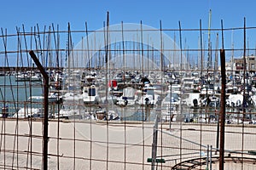
<svg viewBox="0 0 256 170">
<path fill-rule="evenodd" d="M 147 159 L 151 157 L 153 126 L 153 123 L 49 122 L 48 167 L 151 169 Z M 0 168 L 41 169 L 42 122 L 6 121 L 1 122 L 0 127 L 4 134 L 1 136 Z M 172 135 L 166 130 L 168 127 L 168 124 L 160 125 L 162 133 L 158 136 L 157 156 L 163 156 L 166 163 L 159 164 L 159 169 L 170 169 L 192 157 L 207 156 L 207 148 L 204 147 L 207 144 L 216 147 L 215 126 L 172 123 Z M 225 149 L 256 150 L 256 135 L 252 134 L 255 130 L 255 127 L 246 127 L 242 136 L 241 127 L 226 127 Z M 253 168 L 255 165 L 243 167 Z M 212 169 L 218 167 L 215 165 Z"/>
</svg>

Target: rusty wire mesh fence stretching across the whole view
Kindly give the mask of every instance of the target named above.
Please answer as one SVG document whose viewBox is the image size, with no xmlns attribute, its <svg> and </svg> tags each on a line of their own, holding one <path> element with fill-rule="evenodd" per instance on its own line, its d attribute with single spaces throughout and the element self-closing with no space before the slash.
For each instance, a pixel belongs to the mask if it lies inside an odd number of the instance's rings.
<svg viewBox="0 0 256 170">
<path fill-rule="evenodd" d="M 254 169 L 255 32 L 2 29 L 0 168 L 218 169 L 224 149 L 225 169 Z"/>
</svg>

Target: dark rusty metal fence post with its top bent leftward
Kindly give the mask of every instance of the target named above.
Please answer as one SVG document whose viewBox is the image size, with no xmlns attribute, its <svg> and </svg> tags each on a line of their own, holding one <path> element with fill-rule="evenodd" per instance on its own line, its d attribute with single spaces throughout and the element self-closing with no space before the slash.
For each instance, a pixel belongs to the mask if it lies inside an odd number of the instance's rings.
<svg viewBox="0 0 256 170">
<path fill-rule="evenodd" d="M 44 71 L 44 67 L 41 65 L 36 54 L 33 51 L 29 52 L 35 64 L 38 66 L 39 71 L 44 77 L 44 135 L 43 135 L 43 169 L 48 169 L 48 94 L 49 94 L 49 77 Z"/>
</svg>

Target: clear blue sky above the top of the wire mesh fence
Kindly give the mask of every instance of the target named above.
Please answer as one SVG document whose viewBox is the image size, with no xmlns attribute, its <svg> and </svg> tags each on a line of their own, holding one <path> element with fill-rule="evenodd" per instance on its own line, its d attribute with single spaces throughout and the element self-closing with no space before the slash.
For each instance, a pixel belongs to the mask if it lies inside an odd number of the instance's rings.
<svg viewBox="0 0 256 170">
<path fill-rule="evenodd" d="M 144 25 L 159 29 L 161 20 L 164 29 L 178 29 L 178 21 L 181 22 L 182 28 L 198 29 L 200 20 L 203 28 L 208 27 L 210 9 L 212 28 L 220 28 L 221 20 L 224 20 L 224 28 L 242 27 L 244 17 L 247 26 L 256 26 L 255 4 L 252 0 L 8 0 L 1 3 L 0 27 L 12 34 L 16 33 L 15 26 L 21 27 L 22 24 L 30 31 L 29 29 L 37 24 L 43 27 L 54 23 L 60 26 L 60 30 L 67 31 L 69 22 L 72 30 L 84 30 L 86 21 L 89 30 L 97 30 L 102 28 L 109 11 L 110 25 L 120 24 L 121 21 L 139 24 L 142 20 Z M 186 37 L 190 46 L 187 48 L 198 48 L 198 32 L 195 35 L 184 33 L 183 38 Z M 216 32 L 212 32 L 212 42 L 215 37 Z M 247 35 L 252 48 L 256 46 L 254 37 L 254 32 Z M 235 32 L 234 41 L 235 48 L 242 48 L 241 32 Z M 226 48 L 231 47 L 231 31 L 225 36 L 224 43 Z M 241 55 L 241 52 L 237 55 Z"/>
</svg>

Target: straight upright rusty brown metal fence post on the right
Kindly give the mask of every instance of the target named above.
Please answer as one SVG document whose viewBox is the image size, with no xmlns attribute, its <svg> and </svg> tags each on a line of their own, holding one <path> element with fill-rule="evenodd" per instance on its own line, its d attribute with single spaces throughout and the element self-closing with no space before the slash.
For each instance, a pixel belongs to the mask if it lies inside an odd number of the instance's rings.
<svg viewBox="0 0 256 170">
<path fill-rule="evenodd" d="M 224 170 L 224 133 L 225 133 L 225 85 L 226 85 L 226 75 L 225 75 L 225 51 L 220 49 L 220 65 L 221 65 L 221 103 L 220 103 L 220 141 L 219 141 L 219 170 Z"/>
</svg>

